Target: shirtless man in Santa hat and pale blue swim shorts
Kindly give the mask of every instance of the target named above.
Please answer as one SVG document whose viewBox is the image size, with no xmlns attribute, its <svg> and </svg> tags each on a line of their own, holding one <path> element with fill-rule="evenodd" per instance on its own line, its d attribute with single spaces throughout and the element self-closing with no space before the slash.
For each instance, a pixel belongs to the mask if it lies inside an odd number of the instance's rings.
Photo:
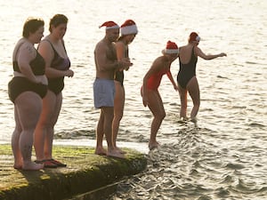
<svg viewBox="0 0 267 200">
<path fill-rule="evenodd" d="M 96 78 L 93 82 L 93 100 L 94 107 L 101 109 L 101 115 L 96 129 L 95 154 L 123 158 L 124 155 L 118 152 L 112 143 L 115 96 L 114 74 L 119 68 L 129 68 L 131 63 L 129 60 L 117 61 L 114 44 L 119 36 L 119 26 L 117 23 L 106 21 L 101 27 L 106 27 L 106 35 L 96 44 L 94 49 Z M 102 146 L 104 134 L 108 143 L 107 151 Z"/>
</svg>

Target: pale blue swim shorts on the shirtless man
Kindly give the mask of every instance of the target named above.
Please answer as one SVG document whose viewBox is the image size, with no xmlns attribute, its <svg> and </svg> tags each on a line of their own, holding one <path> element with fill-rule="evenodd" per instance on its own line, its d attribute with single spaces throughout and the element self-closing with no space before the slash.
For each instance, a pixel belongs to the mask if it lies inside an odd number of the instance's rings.
<svg viewBox="0 0 267 200">
<path fill-rule="evenodd" d="M 93 82 L 93 102 L 95 108 L 114 107 L 114 80 L 95 78 Z"/>
</svg>

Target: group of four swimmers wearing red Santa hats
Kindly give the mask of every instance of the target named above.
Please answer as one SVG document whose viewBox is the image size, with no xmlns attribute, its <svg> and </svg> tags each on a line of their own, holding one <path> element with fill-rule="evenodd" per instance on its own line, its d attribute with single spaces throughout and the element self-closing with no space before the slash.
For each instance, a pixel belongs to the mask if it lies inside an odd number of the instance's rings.
<svg viewBox="0 0 267 200">
<path fill-rule="evenodd" d="M 128 44 L 134 41 L 137 27 L 133 20 L 126 20 L 119 27 L 114 21 L 107 21 L 101 25 L 106 27 L 105 36 L 96 45 L 94 51 L 96 78 L 93 83 L 93 95 L 95 108 L 101 108 L 101 115 L 97 125 L 97 146 L 95 153 L 99 155 L 124 157 L 124 151 L 117 147 L 117 131 L 119 122 L 123 116 L 125 90 L 123 87 L 124 70 L 128 70 L 133 63 L 129 59 Z M 121 36 L 119 36 L 119 30 Z M 118 38 L 118 39 L 117 39 Z M 125 39 L 123 39 L 125 38 Z M 128 38 L 128 39 L 127 39 Z M 226 56 L 222 52 L 214 55 L 206 55 L 198 47 L 200 37 L 196 32 L 190 33 L 188 44 L 178 47 L 172 41 L 168 41 L 161 56 L 153 61 L 149 71 L 143 77 L 141 88 L 144 107 L 149 107 L 154 116 L 150 126 L 149 148 L 158 148 L 158 129 L 166 116 L 162 99 L 158 92 L 158 86 L 165 74 L 178 91 L 181 100 L 181 120 L 189 120 L 197 123 L 200 95 L 198 80 L 196 77 L 196 65 L 198 56 L 204 60 L 213 60 Z M 171 64 L 179 58 L 180 70 L 177 76 L 177 84 L 171 73 Z M 193 101 L 190 118 L 187 117 L 187 93 Z M 108 151 L 102 147 L 105 134 Z"/>
</svg>

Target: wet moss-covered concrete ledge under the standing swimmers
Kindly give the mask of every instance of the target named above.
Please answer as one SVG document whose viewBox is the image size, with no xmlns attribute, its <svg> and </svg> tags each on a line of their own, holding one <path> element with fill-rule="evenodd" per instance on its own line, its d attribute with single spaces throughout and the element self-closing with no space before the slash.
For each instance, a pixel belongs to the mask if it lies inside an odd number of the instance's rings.
<svg viewBox="0 0 267 200">
<path fill-rule="evenodd" d="M 67 167 L 29 172 L 13 169 L 11 146 L 0 145 L 0 199 L 102 199 L 116 190 L 118 181 L 147 166 L 145 155 L 123 149 L 127 152 L 125 159 L 119 159 L 96 156 L 90 147 L 57 145 L 53 156 Z"/>
</svg>

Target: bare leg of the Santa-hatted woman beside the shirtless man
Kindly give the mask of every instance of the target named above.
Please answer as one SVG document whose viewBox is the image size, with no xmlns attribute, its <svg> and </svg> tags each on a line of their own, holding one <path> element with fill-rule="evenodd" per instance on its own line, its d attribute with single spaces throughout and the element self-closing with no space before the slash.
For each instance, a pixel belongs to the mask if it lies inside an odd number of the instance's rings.
<svg viewBox="0 0 267 200">
<path fill-rule="evenodd" d="M 112 142 L 114 148 L 120 153 L 125 153 L 123 150 L 117 147 L 117 132 L 119 129 L 120 120 L 123 117 L 125 107 L 125 89 L 119 82 L 115 81 L 116 93 L 114 98 L 114 118 L 112 122 Z"/>
</svg>

